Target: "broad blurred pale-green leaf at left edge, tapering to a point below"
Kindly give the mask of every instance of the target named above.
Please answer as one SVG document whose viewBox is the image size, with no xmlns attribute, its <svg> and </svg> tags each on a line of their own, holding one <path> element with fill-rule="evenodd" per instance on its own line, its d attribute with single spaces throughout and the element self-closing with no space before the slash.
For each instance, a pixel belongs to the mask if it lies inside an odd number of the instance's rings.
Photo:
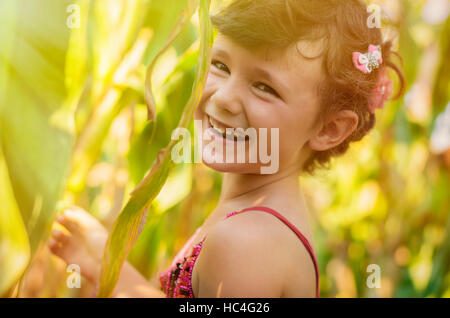
<svg viewBox="0 0 450 318">
<path fill-rule="evenodd" d="M 63 70 L 69 30 L 60 12 L 65 13 L 68 3 L 1 2 L 5 20 L 16 23 L 0 35 L 2 46 L 10 50 L 10 54 L 0 50 L 7 74 L 0 135 L 31 255 L 49 233 L 72 148 L 70 129 L 54 120 L 66 97 Z M 14 7 L 9 13 L 3 10 Z M 55 18 L 49 20 L 47 15 Z"/>
</svg>

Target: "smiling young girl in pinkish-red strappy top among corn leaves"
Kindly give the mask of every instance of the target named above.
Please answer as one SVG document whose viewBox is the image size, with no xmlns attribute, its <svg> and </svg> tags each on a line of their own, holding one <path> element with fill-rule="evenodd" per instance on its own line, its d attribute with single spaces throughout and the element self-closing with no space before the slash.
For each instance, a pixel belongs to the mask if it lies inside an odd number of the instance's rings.
<svg viewBox="0 0 450 318">
<path fill-rule="evenodd" d="M 359 0 L 239 0 L 212 17 L 218 29 L 211 69 L 195 119 L 204 147 L 255 143 L 226 128 L 277 129 L 278 170 L 264 163 L 214 162 L 223 172 L 217 207 L 174 258 L 148 282 L 125 264 L 117 297 L 319 297 L 319 269 L 299 175 L 343 154 L 375 123 L 392 90 L 391 43 L 368 24 Z M 210 135 L 205 132 L 212 132 Z M 235 158 L 236 159 L 236 158 Z M 52 252 L 78 264 L 97 284 L 106 230 L 79 208 L 58 222 Z"/>
</svg>

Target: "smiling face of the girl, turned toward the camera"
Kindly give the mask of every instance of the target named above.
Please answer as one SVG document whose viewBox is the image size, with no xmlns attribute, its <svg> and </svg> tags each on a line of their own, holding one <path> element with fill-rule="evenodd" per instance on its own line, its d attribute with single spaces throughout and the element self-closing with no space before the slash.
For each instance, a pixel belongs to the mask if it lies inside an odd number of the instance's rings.
<svg viewBox="0 0 450 318">
<path fill-rule="evenodd" d="M 307 46 L 302 48 L 302 53 Z M 319 112 L 318 84 L 322 79 L 322 59 L 305 59 L 293 45 L 285 50 L 249 50 L 219 34 L 215 40 L 211 67 L 195 119 L 202 120 L 202 136 L 212 125 L 219 128 L 279 129 L 279 170 L 299 165 L 309 155 L 308 140 Z M 217 138 L 217 137 L 216 137 Z M 212 141 L 203 141 L 205 147 Z M 225 147 L 237 142 L 225 142 Z M 246 142 L 246 163 L 208 163 L 221 172 L 259 174 L 260 161 L 248 163 L 248 153 L 256 143 Z M 255 148 L 257 149 L 257 148 Z M 236 151 L 235 151 L 236 153 Z M 272 156 L 273 157 L 273 156 Z M 208 160 L 205 160 L 208 159 Z"/>
</svg>

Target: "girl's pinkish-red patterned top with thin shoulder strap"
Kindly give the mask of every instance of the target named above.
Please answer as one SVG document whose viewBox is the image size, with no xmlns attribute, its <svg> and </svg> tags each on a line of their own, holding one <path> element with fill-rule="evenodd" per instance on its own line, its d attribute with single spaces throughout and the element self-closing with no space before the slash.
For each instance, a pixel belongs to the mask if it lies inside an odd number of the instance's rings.
<svg viewBox="0 0 450 318">
<path fill-rule="evenodd" d="M 225 219 L 230 216 L 243 213 L 246 211 L 262 211 L 270 213 L 276 216 L 278 219 L 283 221 L 295 234 L 298 236 L 300 241 L 302 241 L 303 245 L 306 247 L 309 255 L 311 256 L 314 269 L 316 273 L 316 297 L 320 297 L 319 291 L 319 267 L 317 264 L 317 259 L 314 254 L 314 251 L 309 244 L 308 240 L 302 233 L 290 223 L 285 217 L 283 217 L 278 212 L 262 206 L 251 207 L 241 211 L 236 211 L 227 214 Z M 225 220 L 224 219 L 224 220 Z M 191 238 L 186 242 L 184 247 L 178 252 L 175 258 L 172 261 L 170 267 L 162 272 L 159 276 L 159 280 L 161 282 L 161 290 L 166 294 L 167 298 L 194 298 L 194 292 L 192 290 L 192 269 L 194 268 L 195 261 L 197 260 L 198 255 L 203 246 L 203 242 L 206 239 L 206 236 L 203 240 L 197 244 L 195 244 L 191 250 L 188 250 L 196 234 L 200 231 L 201 227 L 197 229 L 197 231 L 191 236 Z M 189 253 L 188 253 L 189 252 Z"/>
</svg>

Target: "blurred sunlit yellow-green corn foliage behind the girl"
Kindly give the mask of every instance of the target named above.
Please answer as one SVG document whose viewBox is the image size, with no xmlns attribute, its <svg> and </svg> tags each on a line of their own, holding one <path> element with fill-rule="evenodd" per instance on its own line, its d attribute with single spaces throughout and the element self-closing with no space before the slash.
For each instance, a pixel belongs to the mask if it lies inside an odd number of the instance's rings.
<svg viewBox="0 0 450 318">
<path fill-rule="evenodd" d="M 450 4 L 371 1 L 403 57 L 407 94 L 375 129 L 302 177 L 322 297 L 450 297 Z M 212 10 L 223 1 L 214 1 Z M 0 1 L 0 296 L 89 297 L 67 287 L 46 242 L 61 204 L 108 229 L 167 146 L 195 80 L 198 17 L 152 76 L 146 68 L 187 5 L 181 0 Z M 191 127 L 192 129 L 192 127 Z M 221 176 L 177 165 L 128 260 L 156 277 L 213 210 Z M 369 288 L 367 267 L 381 269 Z"/>
</svg>

